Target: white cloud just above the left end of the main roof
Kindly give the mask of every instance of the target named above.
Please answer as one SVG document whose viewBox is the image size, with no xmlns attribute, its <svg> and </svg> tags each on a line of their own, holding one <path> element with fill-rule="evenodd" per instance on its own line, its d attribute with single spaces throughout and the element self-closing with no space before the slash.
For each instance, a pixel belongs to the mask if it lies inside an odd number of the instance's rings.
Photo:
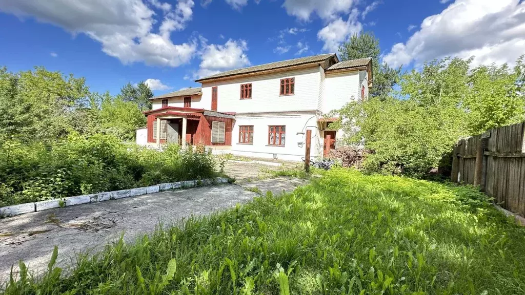
<svg viewBox="0 0 525 295">
<path fill-rule="evenodd" d="M 218 72 L 242 68 L 250 65 L 246 52 L 248 44 L 245 40 L 229 39 L 224 45 L 204 45 L 201 54 L 201 64 L 195 73 L 196 78 L 215 75 Z"/>
</svg>

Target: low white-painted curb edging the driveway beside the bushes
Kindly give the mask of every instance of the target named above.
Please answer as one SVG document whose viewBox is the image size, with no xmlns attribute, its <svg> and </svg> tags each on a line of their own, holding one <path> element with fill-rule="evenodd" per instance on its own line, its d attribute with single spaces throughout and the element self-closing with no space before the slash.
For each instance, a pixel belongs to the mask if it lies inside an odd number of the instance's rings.
<svg viewBox="0 0 525 295">
<path fill-rule="evenodd" d="M 141 196 L 146 194 L 154 194 L 158 192 L 170 191 L 177 188 L 194 187 L 210 184 L 228 183 L 229 179 L 225 177 L 208 178 L 201 181 L 180 181 L 172 183 L 161 183 L 158 185 L 137 187 L 131 189 L 121 189 L 120 191 L 102 192 L 98 194 L 81 195 L 74 197 L 67 197 L 64 199 L 50 199 L 35 203 L 25 203 L 0 208 L 0 217 L 14 216 L 25 213 L 40 212 L 47 209 L 53 209 L 64 206 L 73 206 L 87 203 L 99 203 L 109 201 L 111 199 L 120 199 L 126 197 Z"/>
</svg>

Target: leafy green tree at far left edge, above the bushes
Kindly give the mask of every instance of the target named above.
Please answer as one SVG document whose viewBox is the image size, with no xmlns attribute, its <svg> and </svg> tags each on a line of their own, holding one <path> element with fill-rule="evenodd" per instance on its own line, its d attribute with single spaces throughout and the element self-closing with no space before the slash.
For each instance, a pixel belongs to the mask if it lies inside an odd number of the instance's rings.
<svg viewBox="0 0 525 295">
<path fill-rule="evenodd" d="M 56 140 L 72 128 L 72 110 L 87 98 L 84 78 L 43 67 L 0 69 L 0 134 L 24 141 Z"/>
</svg>

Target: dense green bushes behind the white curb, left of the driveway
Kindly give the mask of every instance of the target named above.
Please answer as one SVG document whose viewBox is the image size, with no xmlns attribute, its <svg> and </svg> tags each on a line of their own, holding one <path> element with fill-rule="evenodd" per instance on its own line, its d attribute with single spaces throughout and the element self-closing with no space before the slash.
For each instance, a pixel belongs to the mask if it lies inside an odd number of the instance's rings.
<svg viewBox="0 0 525 295">
<path fill-rule="evenodd" d="M 0 206 L 208 178 L 213 157 L 168 145 L 163 152 L 111 135 L 71 134 L 51 145 L 0 146 Z"/>
</svg>

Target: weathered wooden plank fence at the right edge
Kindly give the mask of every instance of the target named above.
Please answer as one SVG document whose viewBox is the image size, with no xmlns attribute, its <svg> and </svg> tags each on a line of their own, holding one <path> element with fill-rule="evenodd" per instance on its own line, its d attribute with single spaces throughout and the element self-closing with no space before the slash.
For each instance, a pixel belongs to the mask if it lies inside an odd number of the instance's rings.
<svg viewBox="0 0 525 295">
<path fill-rule="evenodd" d="M 525 216 L 524 131 L 525 122 L 458 141 L 451 180 L 479 185 L 503 208 Z"/>
</svg>

